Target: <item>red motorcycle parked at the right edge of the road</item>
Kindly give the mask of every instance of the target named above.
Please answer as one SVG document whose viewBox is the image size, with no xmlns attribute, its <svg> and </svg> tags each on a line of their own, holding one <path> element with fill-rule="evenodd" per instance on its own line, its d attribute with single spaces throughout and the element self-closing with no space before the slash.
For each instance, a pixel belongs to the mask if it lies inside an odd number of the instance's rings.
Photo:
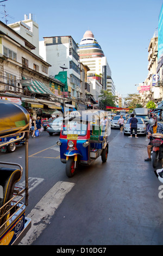
<svg viewBox="0 0 163 256">
<path fill-rule="evenodd" d="M 156 167 L 158 160 L 163 158 L 163 134 L 153 133 L 151 145 L 153 146 L 152 152 L 152 166 Z"/>
</svg>

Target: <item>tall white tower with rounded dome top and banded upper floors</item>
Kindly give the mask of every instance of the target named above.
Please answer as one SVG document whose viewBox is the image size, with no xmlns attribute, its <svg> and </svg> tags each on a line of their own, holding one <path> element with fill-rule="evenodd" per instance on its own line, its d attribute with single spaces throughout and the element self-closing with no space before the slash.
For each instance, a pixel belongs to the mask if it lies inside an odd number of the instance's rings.
<svg viewBox="0 0 163 256">
<path fill-rule="evenodd" d="M 78 54 L 80 62 L 89 67 L 87 78 L 98 80 L 107 90 L 107 81 L 111 79 L 111 70 L 101 46 L 91 31 L 86 31 L 79 44 Z M 109 82 L 110 83 L 110 82 Z M 115 95 L 115 93 L 112 93 Z"/>
</svg>

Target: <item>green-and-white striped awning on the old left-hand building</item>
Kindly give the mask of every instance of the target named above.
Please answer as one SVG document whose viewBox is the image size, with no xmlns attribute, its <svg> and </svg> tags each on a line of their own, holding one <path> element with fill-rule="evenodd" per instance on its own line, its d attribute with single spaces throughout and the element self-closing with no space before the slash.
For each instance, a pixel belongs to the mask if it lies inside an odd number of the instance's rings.
<svg viewBox="0 0 163 256">
<path fill-rule="evenodd" d="M 21 83 L 22 86 L 26 86 L 32 93 L 55 96 L 55 94 L 52 93 L 51 90 L 48 89 L 47 86 L 45 86 L 45 84 L 40 81 L 33 79 L 29 81 L 29 79 L 24 79 Z"/>
</svg>

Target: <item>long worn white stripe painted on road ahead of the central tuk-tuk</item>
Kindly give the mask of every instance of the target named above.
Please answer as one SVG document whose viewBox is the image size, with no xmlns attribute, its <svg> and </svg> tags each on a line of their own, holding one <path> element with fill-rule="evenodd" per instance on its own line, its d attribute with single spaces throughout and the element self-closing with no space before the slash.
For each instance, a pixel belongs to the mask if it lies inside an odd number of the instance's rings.
<svg viewBox="0 0 163 256">
<path fill-rule="evenodd" d="M 32 219 L 32 227 L 20 242 L 20 245 L 31 245 L 49 224 L 55 210 L 59 207 L 66 194 L 75 184 L 58 181 L 27 216 Z"/>
</svg>

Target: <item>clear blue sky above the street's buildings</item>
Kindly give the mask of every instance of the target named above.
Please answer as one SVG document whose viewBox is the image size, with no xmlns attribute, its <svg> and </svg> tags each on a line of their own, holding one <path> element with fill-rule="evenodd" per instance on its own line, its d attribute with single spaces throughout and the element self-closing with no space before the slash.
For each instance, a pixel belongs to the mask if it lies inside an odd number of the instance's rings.
<svg viewBox="0 0 163 256">
<path fill-rule="evenodd" d="M 0 0 L 1 2 L 2 0 Z M 148 46 L 162 0 L 8 0 L 0 3 L 0 20 L 8 24 L 33 14 L 43 36 L 71 35 L 77 43 L 87 29 L 95 35 L 108 60 L 116 90 L 126 97 L 148 74 Z"/>
</svg>

